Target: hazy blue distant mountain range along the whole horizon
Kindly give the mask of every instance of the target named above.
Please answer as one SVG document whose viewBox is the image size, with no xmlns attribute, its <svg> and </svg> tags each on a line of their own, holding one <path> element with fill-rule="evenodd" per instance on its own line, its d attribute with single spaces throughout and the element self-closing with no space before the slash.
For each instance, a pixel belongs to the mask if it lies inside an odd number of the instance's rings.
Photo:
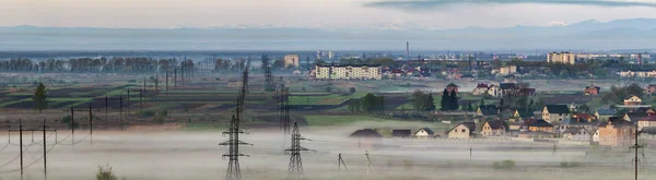
<svg viewBox="0 0 656 180">
<path fill-rule="evenodd" d="M 0 27 L 11 50 L 612 50 L 656 47 L 656 19 L 459 29 Z"/>
</svg>

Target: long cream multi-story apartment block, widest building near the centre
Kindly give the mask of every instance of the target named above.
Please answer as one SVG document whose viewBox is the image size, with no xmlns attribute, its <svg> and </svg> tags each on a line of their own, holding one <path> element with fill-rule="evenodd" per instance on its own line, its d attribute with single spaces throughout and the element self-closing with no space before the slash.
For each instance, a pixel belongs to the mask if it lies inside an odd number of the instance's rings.
<svg viewBox="0 0 656 180">
<path fill-rule="evenodd" d="M 379 65 L 317 64 L 315 68 L 317 80 L 380 80 L 382 77 Z"/>
</svg>

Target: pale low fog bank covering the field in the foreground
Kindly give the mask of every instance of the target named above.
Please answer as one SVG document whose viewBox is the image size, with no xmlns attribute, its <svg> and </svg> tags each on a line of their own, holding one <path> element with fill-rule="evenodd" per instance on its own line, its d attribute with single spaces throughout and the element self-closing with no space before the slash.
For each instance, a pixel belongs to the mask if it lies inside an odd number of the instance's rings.
<svg viewBox="0 0 656 180">
<path fill-rule="evenodd" d="M 301 133 L 313 141 L 303 142 L 304 147 L 316 152 L 302 153 L 303 167 L 308 179 L 629 179 L 632 177 L 631 156 L 625 149 L 593 151 L 582 146 L 558 145 L 553 151 L 550 143 L 523 143 L 507 140 L 415 140 L 347 139 L 354 129 L 374 125 L 368 122 L 353 127 L 301 128 Z M 377 124 L 379 127 L 395 124 Z M 412 124 L 397 124 L 398 127 Z M 250 134 L 241 140 L 253 143 L 243 146 L 241 153 L 250 155 L 239 158 L 245 179 L 284 179 L 289 156 L 284 148 L 290 146 L 289 137 L 279 130 L 249 130 Z M 75 142 L 70 146 L 70 132 L 58 134 L 60 144 L 48 154 L 48 179 L 82 180 L 92 179 L 97 166 L 109 165 L 115 173 L 127 179 L 223 179 L 227 159 L 222 155 L 227 147 L 218 146 L 226 141 L 219 131 L 180 132 L 118 132 L 96 131 L 93 137 L 89 132 L 75 132 Z M 19 155 L 17 135 L 11 136 L 0 154 L 0 161 L 9 161 Z M 0 139 L 8 139 L 2 133 Z M 31 145 L 25 152 L 26 176 L 43 178 L 40 134 L 35 133 L 35 144 L 31 134 L 25 134 L 24 143 Z M 63 140 L 63 141 L 61 141 Z M 93 140 L 93 144 L 92 144 Z M 48 136 L 48 146 L 55 144 L 55 136 Z M 469 148 L 472 148 L 471 161 Z M 366 176 L 365 151 L 372 160 L 371 176 Z M 348 166 L 337 176 L 338 154 Z M 655 153 L 647 149 L 646 157 Z M 495 161 L 513 160 L 516 166 L 507 169 L 494 168 Z M 563 163 L 571 167 L 563 167 Z M 19 168 L 19 161 L 11 161 L 0 171 Z M 565 165 L 566 166 L 566 165 Z M 647 166 L 647 167 L 644 167 Z M 649 171 L 652 164 L 644 163 L 641 176 L 656 178 Z M 343 168 L 343 167 L 342 167 Z M 499 177 L 499 178 L 495 178 Z M 625 177 L 625 178 L 621 178 Z M 2 179 L 17 179 L 19 173 L 1 173 Z"/>
</svg>

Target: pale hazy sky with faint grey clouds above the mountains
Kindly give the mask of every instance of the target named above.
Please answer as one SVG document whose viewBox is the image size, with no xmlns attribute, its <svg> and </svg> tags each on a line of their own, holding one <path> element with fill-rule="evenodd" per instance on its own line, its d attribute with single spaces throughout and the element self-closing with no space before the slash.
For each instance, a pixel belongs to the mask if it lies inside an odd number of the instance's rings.
<svg viewBox="0 0 656 180">
<path fill-rule="evenodd" d="M 656 19 L 655 0 L 0 0 L 0 26 L 458 28 Z"/>
</svg>

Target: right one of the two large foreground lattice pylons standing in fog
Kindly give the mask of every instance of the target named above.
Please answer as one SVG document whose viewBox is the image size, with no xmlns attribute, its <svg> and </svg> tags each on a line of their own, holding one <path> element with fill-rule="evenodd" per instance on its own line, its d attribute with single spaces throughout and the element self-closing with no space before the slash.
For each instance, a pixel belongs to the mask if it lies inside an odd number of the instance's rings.
<svg viewBox="0 0 656 180">
<path fill-rule="evenodd" d="M 301 161 L 301 152 L 306 152 L 311 149 L 301 146 L 302 140 L 309 141 L 308 139 L 301 136 L 301 132 L 298 132 L 298 124 L 294 122 L 294 129 L 292 130 L 292 146 L 284 151 L 285 154 L 291 155 L 289 167 L 290 175 L 303 175 L 303 161 Z"/>
</svg>

